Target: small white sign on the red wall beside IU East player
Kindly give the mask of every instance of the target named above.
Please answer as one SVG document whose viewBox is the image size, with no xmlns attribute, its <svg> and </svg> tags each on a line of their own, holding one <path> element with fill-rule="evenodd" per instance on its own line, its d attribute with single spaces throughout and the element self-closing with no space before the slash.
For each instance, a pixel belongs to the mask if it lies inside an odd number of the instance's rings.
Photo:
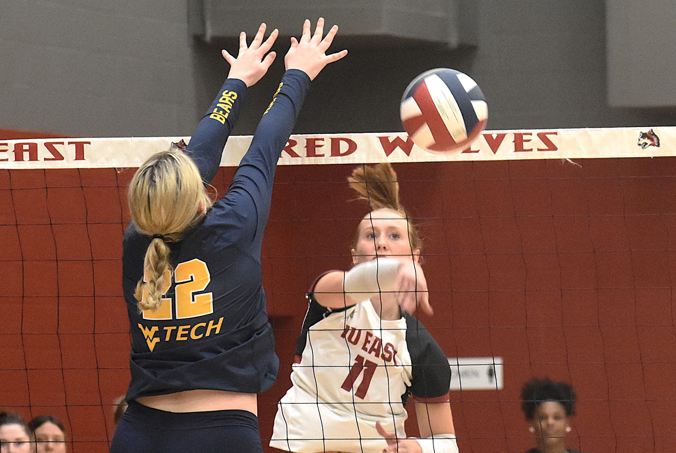
<svg viewBox="0 0 676 453">
<path fill-rule="evenodd" d="M 449 357 L 451 390 L 502 390 L 502 357 Z"/>
</svg>

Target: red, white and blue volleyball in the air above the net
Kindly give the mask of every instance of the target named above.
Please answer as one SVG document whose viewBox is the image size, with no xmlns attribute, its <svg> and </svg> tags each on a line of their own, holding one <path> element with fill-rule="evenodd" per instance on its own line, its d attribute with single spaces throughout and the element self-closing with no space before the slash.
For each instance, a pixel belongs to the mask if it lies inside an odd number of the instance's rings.
<svg viewBox="0 0 676 453">
<path fill-rule="evenodd" d="M 466 149 L 485 129 L 488 105 L 470 76 L 437 68 L 408 84 L 400 114 L 404 130 L 420 148 L 450 153 Z"/>
</svg>

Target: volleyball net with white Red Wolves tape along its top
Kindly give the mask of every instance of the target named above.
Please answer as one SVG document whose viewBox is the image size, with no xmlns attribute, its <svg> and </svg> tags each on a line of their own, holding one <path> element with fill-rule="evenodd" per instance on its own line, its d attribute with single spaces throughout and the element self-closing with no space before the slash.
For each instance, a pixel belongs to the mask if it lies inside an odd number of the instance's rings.
<svg viewBox="0 0 676 453">
<path fill-rule="evenodd" d="M 107 451 L 129 381 L 126 186 L 180 138 L 0 140 L 0 406 L 62 419 L 73 452 Z M 228 140 L 218 196 L 250 140 Z M 345 178 L 383 161 L 423 235 L 435 316 L 420 320 L 461 378 L 471 358 L 503 364 L 502 388 L 451 392 L 461 452 L 535 445 L 520 399 L 531 377 L 575 388 L 569 448 L 676 449 L 676 128 L 487 131 L 453 155 L 399 133 L 292 136 L 262 251 L 281 363 L 259 396 L 264 445 L 304 294 L 349 268 L 368 212 Z"/>
</svg>

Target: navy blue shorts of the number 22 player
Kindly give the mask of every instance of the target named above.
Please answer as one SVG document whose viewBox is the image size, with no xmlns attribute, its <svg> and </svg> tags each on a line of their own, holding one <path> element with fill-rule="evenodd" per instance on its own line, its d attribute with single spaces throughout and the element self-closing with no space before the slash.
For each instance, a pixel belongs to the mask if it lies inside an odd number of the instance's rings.
<svg viewBox="0 0 676 453">
<path fill-rule="evenodd" d="M 166 412 L 129 402 L 110 453 L 174 452 L 262 453 L 258 417 L 248 410 Z"/>
</svg>

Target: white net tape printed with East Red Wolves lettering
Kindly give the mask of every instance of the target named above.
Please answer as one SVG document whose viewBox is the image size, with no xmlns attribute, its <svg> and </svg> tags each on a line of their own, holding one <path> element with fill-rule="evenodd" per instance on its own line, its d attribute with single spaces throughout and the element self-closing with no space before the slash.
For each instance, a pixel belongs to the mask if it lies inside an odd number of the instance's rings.
<svg viewBox="0 0 676 453">
<path fill-rule="evenodd" d="M 0 168 L 138 167 L 170 142 L 189 137 L 45 138 L 0 142 Z M 231 136 L 221 160 L 236 166 L 251 136 Z M 405 133 L 293 135 L 281 165 L 516 159 L 587 159 L 676 155 L 676 127 L 485 131 L 457 153 L 435 154 Z"/>
</svg>

